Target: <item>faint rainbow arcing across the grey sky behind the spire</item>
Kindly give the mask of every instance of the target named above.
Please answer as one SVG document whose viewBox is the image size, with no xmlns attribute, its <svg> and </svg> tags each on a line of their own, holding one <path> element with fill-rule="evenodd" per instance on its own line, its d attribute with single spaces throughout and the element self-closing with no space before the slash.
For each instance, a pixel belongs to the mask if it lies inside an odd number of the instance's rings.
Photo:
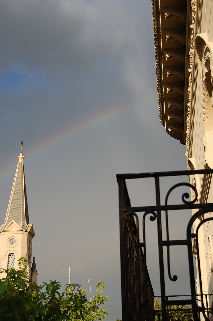
<svg viewBox="0 0 213 321">
<path fill-rule="evenodd" d="M 46 140 L 42 143 L 38 143 L 38 147 L 33 147 L 26 157 L 24 161 L 25 164 L 29 163 L 30 161 L 35 159 L 35 156 L 45 154 L 46 152 L 50 151 L 51 149 L 57 147 L 61 143 L 65 143 L 70 139 L 76 137 L 77 135 L 84 133 L 92 128 L 97 126 L 101 126 L 116 117 L 121 116 L 122 114 L 128 112 L 130 109 L 126 110 L 111 110 L 100 115 L 96 115 L 95 117 L 90 117 L 81 120 L 78 124 L 72 125 L 72 127 L 67 127 L 63 130 L 61 134 L 54 134 L 51 136 L 51 139 Z M 21 138 L 20 138 L 21 140 Z M 24 139 L 23 139 L 24 143 Z M 23 150 L 24 154 L 24 150 Z M 18 156 L 18 155 L 17 155 Z M 0 183 L 2 184 L 7 178 L 9 178 L 12 174 L 15 173 L 14 161 L 7 164 L 7 167 L 2 169 L 0 172 Z"/>
</svg>

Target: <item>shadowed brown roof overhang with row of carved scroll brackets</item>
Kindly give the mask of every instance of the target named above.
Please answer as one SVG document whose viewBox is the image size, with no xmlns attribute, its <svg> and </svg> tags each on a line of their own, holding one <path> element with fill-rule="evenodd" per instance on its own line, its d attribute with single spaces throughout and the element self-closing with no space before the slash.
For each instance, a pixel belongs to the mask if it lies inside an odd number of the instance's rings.
<svg viewBox="0 0 213 321">
<path fill-rule="evenodd" d="M 167 133 L 186 144 L 193 1 L 152 0 L 159 116 Z M 192 62 L 191 62 L 192 63 Z"/>
</svg>

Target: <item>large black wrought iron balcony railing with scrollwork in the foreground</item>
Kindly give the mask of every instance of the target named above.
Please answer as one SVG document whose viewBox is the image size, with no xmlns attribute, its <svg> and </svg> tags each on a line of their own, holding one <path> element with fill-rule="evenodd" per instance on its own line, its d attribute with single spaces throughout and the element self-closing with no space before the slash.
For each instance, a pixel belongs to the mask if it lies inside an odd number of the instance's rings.
<svg viewBox="0 0 213 321">
<path fill-rule="evenodd" d="M 162 321 L 169 320 L 169 307 L 171 306 L 190 306 L 191 314 L 194 321 L 199 321 L 200 313 L 205 320 L 210 320 L 210 308 L 207 308 L 206 299 L 203 295 L 201 267 L 200 267 L 200 252 L 198 247 L 198 231 L 200 227 L 207 221 L 213 221 L 210 215 L 205 216 L 206 213 L 213 212 L 213 203 L 203 204 L 198 203 L 198 193 L 195 184 L 188 182 L 177 183 L 169 188 L 164 204 L 160 200 L 160 178 L 181 176 L 181 175 L 200 175 L 200 178 L 210 177 L 213 173 L 212 169 L 206 170 L 191 170 L 191 171 L 176 171 L 176 172 L 157 172 L 157 173 L 142 173 L 142 174 L 118 174 L 117 181 L 119 185 L 119 220 L 120 220 L 120 256 L 121 256 L 121 292 L 122 292 L 122 317 L 123 321 L 137 320 L 137 321 L 153 321 L 154 316 L 154 294 L 152 284 L 150 282 L 149 273 L 147 270 L 146 252 L 149 248 L 146 246 L 145 238 L 145 217 L 148 215 L 151 221 L 157 220 L 158 233 L 158 255 L 159 255 L 159 270 L 160 270 L 160 291 L 161 291 L 161 312 L 160 318 Z M 127 191 L 126 180 L 138 178 L 154 178 L 155 180 L 155 200 L 156 205 L 152 206 L 137 206 L 132 207 Z M 193 199 L 188 201 L 189 193 L 182 195 L 183 204 L 168 204 L 168 197 L 172 191 L 177 187 L 190 187 L 193 191 Z M 173 240 L 169 239 L 169 211 L 194 209 L 196 213 L 193 214 L 189 220 L 188 226 L 185 227 L 186 239 Z M 138 213 L 138 214 L 137 214 Z M 138 215 L 143 213 L 143 236 L 142 242 L 139 239 L 139 219 Z M 165 213 L 166 237 L 162 235 L 162 220 L 161 215 Z M 201 219 L 197 228 L 193 230 L 194 221 Z M 193 263 L 193 248 L 192 240 L 194 240 L 197 251 L 198 262 L 198 279 L 199 279 L 199 304 L 196 293 L 197 287 L 195 284 L 194 263 Z M 165 290 L 165 268 L 163 249 L 167 248 L 167 266 L 168 277 L 171 281 L 177 280 L 176 275 L 171 275 L 170 271 L 170 247 L 171 246 L 186 246 L 188 253 L 188 265 L 190 274 L 190 297 L 175 297 L 166 296 Z M 151 249 L 150 249 L 151 250 Z M 195 290 L 196 289 L 196 290 Z M 212 289 L 213 290 L 213 289 Z M 208 301 L 208 300 L 207 300 Z M 188 312 L 189 312 L 188 310 Z M 180 310 L 179 310 L 180 311 Z M 173 311 L 174 312 L 174 311 Z M 185 314 L 182 314 L 185 316 Z M 171 313 L 170 313 L 171 317 Z M 187 319 L 188 320 L 188 319 Z"/>
</svg>

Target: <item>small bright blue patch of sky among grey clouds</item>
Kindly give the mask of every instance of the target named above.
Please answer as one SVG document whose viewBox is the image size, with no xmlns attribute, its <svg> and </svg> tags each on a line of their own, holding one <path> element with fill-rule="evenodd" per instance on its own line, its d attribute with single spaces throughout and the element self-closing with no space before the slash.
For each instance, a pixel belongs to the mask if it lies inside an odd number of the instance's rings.
<svg viewBox="0 0 213 321">
<path fill-rule="evenodd" d="M 30 70 L 29 73 L 21 73 L 20 68 L 8 68 L 4 73 L 0 74 L 0 89 L 4 88 L 12 92 L 19 92 L 24 85 L 47 88 L 54 86 L 51 77 L 39 71 Z"/>
</svg>

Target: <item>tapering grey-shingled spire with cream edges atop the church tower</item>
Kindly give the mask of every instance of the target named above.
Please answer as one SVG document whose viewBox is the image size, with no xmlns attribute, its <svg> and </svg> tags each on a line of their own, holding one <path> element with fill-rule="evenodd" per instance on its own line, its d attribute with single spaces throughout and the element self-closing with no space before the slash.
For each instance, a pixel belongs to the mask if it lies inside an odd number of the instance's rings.
<svg viewBox="0 0 213 321">
<path fill-rule="evenodd" d="M 15 221 L 21 230 L 30 230 L 27 192 L 24 176 L 24 156 L 22 153 L 20 153 L 18 156 L 18 160 L 19 161 L 12 185 L 12 192 L 10 195 L 5 221 L 0 230 L 4 230 L 12 221 Z"/>
</svg>

